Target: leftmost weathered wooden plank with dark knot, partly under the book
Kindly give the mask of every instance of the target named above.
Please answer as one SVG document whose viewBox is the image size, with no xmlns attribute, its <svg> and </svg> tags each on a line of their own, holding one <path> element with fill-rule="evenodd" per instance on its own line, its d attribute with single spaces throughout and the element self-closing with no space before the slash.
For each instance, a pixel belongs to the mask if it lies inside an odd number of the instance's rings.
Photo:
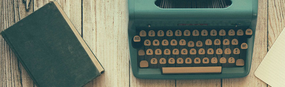
<svg viewBox="0 0 285 87">
<path fill-rule="evenodd" d="M 14 1 L 14 2 L 13 2 Z M 1 1 L 1 31 L 33 12 L 33 1 Z M 29 10 L 32 9 L 32 10 Z M 27 71 L 1 38 L 1 86 L 34 86 Z"/>
</svg>

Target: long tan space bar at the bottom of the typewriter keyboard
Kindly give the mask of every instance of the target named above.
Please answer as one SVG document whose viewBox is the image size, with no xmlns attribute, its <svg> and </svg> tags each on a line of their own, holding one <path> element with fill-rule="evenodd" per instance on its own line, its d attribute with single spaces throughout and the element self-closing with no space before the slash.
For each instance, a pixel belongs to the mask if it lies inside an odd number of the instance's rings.
<svg viewBox="0 0 285 87">
<path fill-rule="evenodd" d="M 162 67 L 163 74 L 221 73 L 221 66 L 207 67 Z"/>
</svg>

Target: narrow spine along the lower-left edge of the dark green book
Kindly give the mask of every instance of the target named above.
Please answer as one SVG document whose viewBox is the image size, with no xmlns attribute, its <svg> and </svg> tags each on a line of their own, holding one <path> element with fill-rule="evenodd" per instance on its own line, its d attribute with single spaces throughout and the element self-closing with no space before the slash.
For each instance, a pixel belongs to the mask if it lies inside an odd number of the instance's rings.
<svg viewBox="0 0 285 87">
<path fill-rule="evenodd" d="M 30 75 L 30 77 L 33 79 L 33 82 L 40 87 L 40 85 L 37 83 L 37 81 L 35 80 L 35 78 L 33 77 L 33 75 L 30 73 L 29 69 L 27 68 L 27 66 L 25 65 L 25 63 L 22 61 L 20 55 L 17 53 L 17 51 L 14 49 L 13 45 L 10 43 L 9 39 L 7 38 L 6 34 L 5 34 L 5 30 L 2 31 L 0 33 L 0 35 L 4 38 L 4 40 L 7 42 L 7 44 L 9 45 L 9 47 L 12 49 L 12 51 L 14 52 L 14 54 L 16 55 L 18 61 L 20 61 L 23 65 L 23 67 L 25 68 L 25 70 L 27 71 L 27 73 Z"/>
</svg>

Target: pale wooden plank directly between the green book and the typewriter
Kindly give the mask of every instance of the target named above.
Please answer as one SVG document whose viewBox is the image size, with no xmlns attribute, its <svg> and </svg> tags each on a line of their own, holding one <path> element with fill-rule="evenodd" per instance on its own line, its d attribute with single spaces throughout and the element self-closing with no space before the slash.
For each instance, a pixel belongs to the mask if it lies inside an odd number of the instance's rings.
<svg viewBox="0 0 285 87">
<path fill-rule="evenodd" d="M 83 39 L 105 73 L 85 86 L 129 86 L 126 0 L 83 0 Z"/>
</svg>

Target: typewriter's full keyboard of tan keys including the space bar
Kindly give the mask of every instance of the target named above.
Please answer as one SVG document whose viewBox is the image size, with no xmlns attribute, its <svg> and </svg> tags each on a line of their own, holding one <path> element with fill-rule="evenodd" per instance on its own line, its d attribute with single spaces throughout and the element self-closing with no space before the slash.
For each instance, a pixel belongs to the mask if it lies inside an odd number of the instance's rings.
<svg viewBox="0 0 285 87">
<path fill-rule="evenodd" d="M 242 67 L 252 29 L 139 29 L 132 40 L 139 68 L 163 74 L 221 73 Z"/>
</svg>

